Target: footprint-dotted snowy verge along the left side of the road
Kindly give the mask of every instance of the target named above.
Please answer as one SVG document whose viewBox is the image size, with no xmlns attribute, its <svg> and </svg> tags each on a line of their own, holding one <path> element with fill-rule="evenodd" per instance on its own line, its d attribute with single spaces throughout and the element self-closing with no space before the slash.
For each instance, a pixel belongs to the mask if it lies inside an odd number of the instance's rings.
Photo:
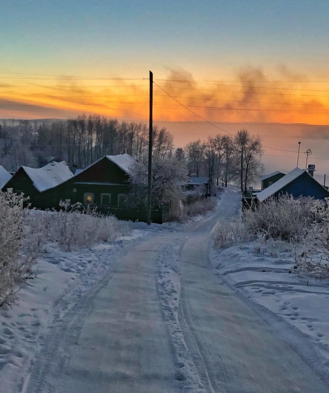
<svg viewBox="0 0 329 393">
<path fill-rule="evenodd" d="M 0 392 L 25 391 L 28 370 L 43 339 L 85 293 L 104 277 L 126 250 L 147 236 L 174 231 L 177 225 L 134 224 L 131 236 L 79 252 L 48 244 L 35 266 L 35 277 L 21 285 L 14 301 L 0 307 Z M 25 383 L 25 385 L 24 385 Z"/>
</svg>

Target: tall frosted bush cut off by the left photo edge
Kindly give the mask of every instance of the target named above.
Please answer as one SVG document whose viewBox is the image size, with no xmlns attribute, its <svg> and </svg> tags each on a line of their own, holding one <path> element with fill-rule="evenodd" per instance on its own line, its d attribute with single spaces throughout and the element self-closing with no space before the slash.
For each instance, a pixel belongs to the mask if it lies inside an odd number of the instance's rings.
<svg viewBox="0 0 329 393">
<path fill-rule="evenodd" d="M 40 237 L 26 225 L 23 194 L 0 191 L 0 305 L 29 275 L 36 261 Z"/>
</svg>

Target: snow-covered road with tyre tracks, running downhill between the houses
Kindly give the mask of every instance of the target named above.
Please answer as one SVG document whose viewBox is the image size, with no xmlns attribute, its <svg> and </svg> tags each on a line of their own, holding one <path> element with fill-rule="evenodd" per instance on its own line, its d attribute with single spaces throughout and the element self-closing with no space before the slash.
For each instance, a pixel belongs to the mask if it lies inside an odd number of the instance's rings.
<svg viewBox="0 0 329 393">
<path fill-rule="evenodd" d="M 237 209 L 240 195 L 227 190 L 205 219 L 132 244 L 55 316 L 22 391 L 328 392 L 262 315 L 215 275 L 211 230 Z"/>
</svg>

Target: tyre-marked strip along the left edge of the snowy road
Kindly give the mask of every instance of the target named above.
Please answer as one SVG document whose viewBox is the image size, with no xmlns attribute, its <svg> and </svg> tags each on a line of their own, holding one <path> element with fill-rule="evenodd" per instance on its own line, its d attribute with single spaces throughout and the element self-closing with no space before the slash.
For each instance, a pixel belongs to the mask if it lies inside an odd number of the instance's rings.
<svg viewBox="0 0 329 393">
<path fill-rule="evenodd" d="M 74 346 L 77 345 L 82 326 L 86 317 L 93 309 L 93 300 L 99 291 L 112 279 L 112 272 L 121 262 L 120 254 L 125 248 L 115 255 L 115 262 L 104 271 L 105 275 L 94 287 L 86 291 L 78 287 L 72 294 L 65 292 L 55 302 L 56 311 L 48 334 L 40 337 L 41 350 L 37 360 L 32 364 L 32 372 L 25 382 L 22 393 L 55 393 L 60 391 L 63 378 L 69 376 L 69 367 Z M 100 253 L 100 257 L 106 256 Z M 104 266 L 106 269 L 106 266 Z M 82 283 L 82 286 L 84 284 Z M 70 305 L 74 304 L 72 307 Z"/>
</svg>

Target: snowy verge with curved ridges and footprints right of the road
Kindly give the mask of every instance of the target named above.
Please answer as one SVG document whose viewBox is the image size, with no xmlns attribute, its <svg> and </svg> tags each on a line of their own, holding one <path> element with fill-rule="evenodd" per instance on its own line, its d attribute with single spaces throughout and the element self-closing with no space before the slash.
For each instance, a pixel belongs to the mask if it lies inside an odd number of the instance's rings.
<svg viewBox="0 0 329 393">
<path fill-rule="evenodd" d="M 300 269 L 284 242 L 249 242 L 221 252 L 212 265 L 329 381 L 329 278 Z"/>
</svg>

